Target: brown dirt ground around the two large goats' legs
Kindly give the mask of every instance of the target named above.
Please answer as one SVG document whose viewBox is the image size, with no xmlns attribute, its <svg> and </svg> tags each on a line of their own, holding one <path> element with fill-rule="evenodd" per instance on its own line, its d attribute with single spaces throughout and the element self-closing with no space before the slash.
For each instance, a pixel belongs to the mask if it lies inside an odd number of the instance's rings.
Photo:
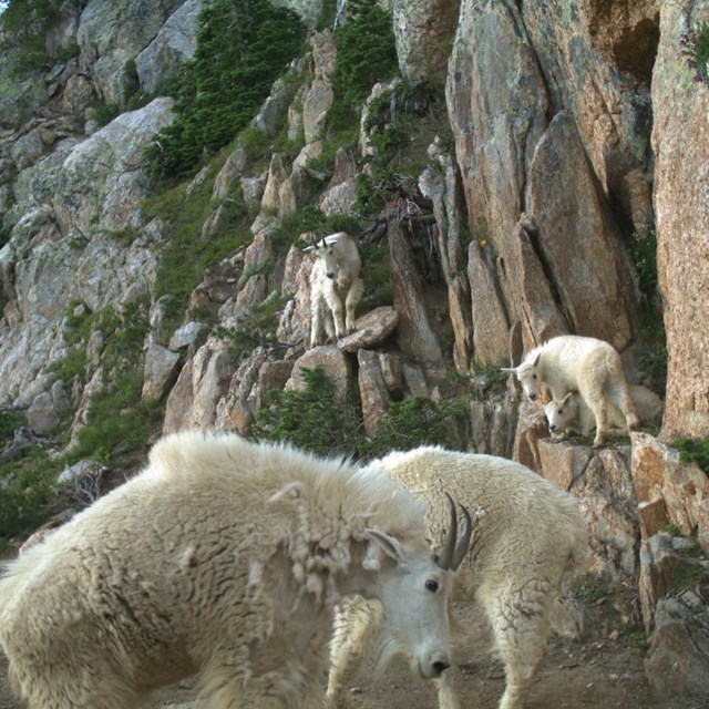
<svg viewBox="0 0 709 709">
<path fill-rule="evenodd" d="M 526 709 L 709 709 L 709 698 L 688 701 L 654 696 L 643 670 L 643 651 L 635 647 L 637 635 L 618 635 L 612 605 L 612 598 L 586 604 L 594 639 L 552 640 Z M 490 657 L 486 625 L 473 604 L 456 604 L 455 617 L 463 633 L 455 640 L 456 660 L 449 671 L 454 675 L 461 709 L 495 709 L 504 690 L 504 674 Z M 23 705 L 10 695 L 4 670 L 3 664 L 0 709 L 22 709 Z M 194 696 L 193 684 L 184 682 L 155 696 L 148 707 L 177 709 Z M 412 678 L 398 666 L 378 681 L 362 674 L 350 687 L 349 703 L 350 709 L 438 708 L 433 684 Z"/>
</svg>

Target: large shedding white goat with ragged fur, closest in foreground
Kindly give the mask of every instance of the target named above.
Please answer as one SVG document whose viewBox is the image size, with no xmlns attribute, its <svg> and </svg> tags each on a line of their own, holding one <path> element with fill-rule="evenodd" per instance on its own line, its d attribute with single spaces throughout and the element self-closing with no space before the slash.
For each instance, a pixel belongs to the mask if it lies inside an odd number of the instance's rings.
<svg viewBox="0 0 709 709">
<path fill-rule="evenodd" d="M 387 655 L 440 675 L 453 576 L 386 474 L 179 433 L 9 564 L 0 644 L 30 709 L 129 709 L 195 672 L 199 707 L 310 709 L 342 595 L 378 598 Z"/>
</svg>

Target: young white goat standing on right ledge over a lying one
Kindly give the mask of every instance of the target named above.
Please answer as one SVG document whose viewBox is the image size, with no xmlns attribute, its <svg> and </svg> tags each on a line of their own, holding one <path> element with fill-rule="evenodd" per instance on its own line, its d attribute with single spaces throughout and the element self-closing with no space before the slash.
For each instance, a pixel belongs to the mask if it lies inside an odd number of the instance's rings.
<svg viewBox="0 0 709 709">
<path fill-rule="evenodd" d="M 623 373 L 620 354 L 613 345 L 593 337 L 561 335 L 534 348 L 514 372 L 526 395 L 534 401 L 545 387 L 554 401 L 577 391 L 596 420 L 594 445 L 604 444 L 608 427 L 608 401 L 620 409 L 628 429 L 639 425 L 628 384 Z"/>
</svg>

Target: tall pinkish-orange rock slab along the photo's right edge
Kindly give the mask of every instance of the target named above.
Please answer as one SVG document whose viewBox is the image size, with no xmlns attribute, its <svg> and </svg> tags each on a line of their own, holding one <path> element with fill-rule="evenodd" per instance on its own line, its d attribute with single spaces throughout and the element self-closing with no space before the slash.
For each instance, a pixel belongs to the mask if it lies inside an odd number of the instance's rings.
<svg viewBox="0 0 709 709">
<path fill-rule="evenodd" d="M 681 56 L 681 35 L 703 3 L 662 6 L 661 41 L 653 73 L 653 148 L 657 265 L 665 297 L 667 400 L 662 435 L 709 438 L 709 347 L 705 296 L 709 292 L 709 228 L 703 145 L 709 97 Z M 691 140 L 687 136 L 691 135 Z"/>
</svg>

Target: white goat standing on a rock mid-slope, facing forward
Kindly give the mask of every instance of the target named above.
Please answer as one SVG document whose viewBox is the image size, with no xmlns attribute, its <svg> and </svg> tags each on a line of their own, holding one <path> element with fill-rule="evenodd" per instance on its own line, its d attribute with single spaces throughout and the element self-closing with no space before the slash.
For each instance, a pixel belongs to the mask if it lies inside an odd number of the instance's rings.
<svg viewBox="0 0 709 709">
<path fill-rule="evenodd" d="M 357 242 L 338 232 L 312 247 L 317 255 L 310 273 L 310 347 L 354 329 L 354 309 L 362 299 L 362 261 Z"/>
</svg>

